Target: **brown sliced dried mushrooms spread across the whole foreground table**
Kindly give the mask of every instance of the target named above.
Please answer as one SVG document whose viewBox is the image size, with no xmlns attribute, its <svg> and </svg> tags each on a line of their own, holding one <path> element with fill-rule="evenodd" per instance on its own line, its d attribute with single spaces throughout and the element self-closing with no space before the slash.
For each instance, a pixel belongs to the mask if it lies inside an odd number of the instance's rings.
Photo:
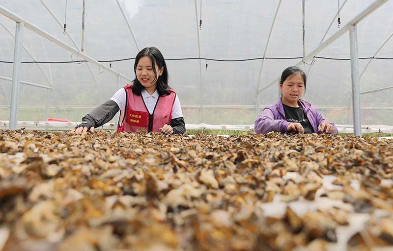
<svg viewBox="0 0 393 251">
<path fill-rule="evenodd" d="M 386 139 L 3 130 L 0 250 L 325 250 L 350 214 L 368 250 L 393 245 L 392 177 Z M 323 198 L 345 207 L 291 204 Z"/>
</svg>

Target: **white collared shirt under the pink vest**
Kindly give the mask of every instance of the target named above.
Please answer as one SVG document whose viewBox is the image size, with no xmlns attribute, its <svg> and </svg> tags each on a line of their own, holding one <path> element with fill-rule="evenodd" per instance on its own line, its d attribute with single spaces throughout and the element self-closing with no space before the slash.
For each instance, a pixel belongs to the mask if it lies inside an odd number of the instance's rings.
<svg viewBox="0 0 393 251">
<path fill-rule="evenodd" d="M 150 114 L 153 114 L 154 107 L 156 106 L 158 100 L 158 91 L 156 90 L 153 95 L 150 95 L 145 89 L 141 92 L 144 103 L 146 104 L 147 110 Z M 111 100 L 115 101 L 117 106 L 120 108 L 121 114 L 125 113 L 126 110 L 126 90 L 121 88 L 118 90 L 111 98 Z M 183 117 L 183 113 L 181 111 L 180 100 L 176 95 L 175 101 L 172 107 L 172 119 L 177 119 Z"/>
</svg>

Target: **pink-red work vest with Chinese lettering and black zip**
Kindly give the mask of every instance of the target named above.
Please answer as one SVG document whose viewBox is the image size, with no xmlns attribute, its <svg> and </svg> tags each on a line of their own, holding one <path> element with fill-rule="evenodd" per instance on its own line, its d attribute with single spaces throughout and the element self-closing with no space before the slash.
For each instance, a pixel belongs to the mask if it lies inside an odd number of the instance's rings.
<svg viewBox="0 0 393 251">
<path fill-rule="evenodd" d="M 126 112 L 120 114 L 120 120 L 123 124 L 117 126 L 117 131 L 137 131 L 144 129 L 146 131 L 159 132 L 165 124 L 170 125 L 173 103 L 176 93 L 169 90 L 167 96 L 159 96 L 153 114 L 150 115 L 143 101 L 142 95 L 137 96 L 132 92 L 132 85 L 124 86 L 127 95 Z M 150 120 L 153 120 L 152 125 Z M 149 128 L 150 125 L 150 128 Z"/>
</svg>

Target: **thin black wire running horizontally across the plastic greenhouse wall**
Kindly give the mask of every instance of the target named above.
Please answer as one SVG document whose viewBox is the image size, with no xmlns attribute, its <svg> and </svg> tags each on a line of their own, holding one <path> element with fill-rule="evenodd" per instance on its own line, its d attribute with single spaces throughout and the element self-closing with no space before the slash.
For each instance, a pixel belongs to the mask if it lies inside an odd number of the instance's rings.
<svg viewBox="0 0 393 251">
<path fill-rule="evenodd" d="M 302 59 L 303 57 L 255 57 L 255 58 L 245 58 L 245 59 L 217 59 L 217 58 L 206 58 L 201 57 L 203 60 L 211 60 L 211 61 L 219 61 L 219 62 L 243 62 L 243 61 L 252 61 L 252 60 L 261 60 L 261 59 L 277 59 L 277 60 L 286 60 L 286 59 Z M 351 60 L 350 58 L 338 58 L 338 57 L 321 57 L 316 56 L 315 58 L 319 59 L 328 59 L 328 60 Z M 359 60 L 362 59 L 382 59 L 382 60 L 393 60 L 393 57 L 360 57 Z M 116 60 L 98 60 L 100 63 L 109 63 L 109 62 L 119 62 L 119 61 L 128 61 L 133 60 L 135 57 L 116 59 Z M 186 57 L 186 58 L 166 58 L 165 60 L 171 61 L 182 61 L 182 60 L 197 60 L 199 57 Z M 87 60 L 79 60 L 79 61 L 24 61 L 22 64 L 68 64 L 68 63 L 83 63 L 88 62 Z M 4 61 L 0 60 L 0 63 L 13 64 L 12 61 Z"/>
</svg>

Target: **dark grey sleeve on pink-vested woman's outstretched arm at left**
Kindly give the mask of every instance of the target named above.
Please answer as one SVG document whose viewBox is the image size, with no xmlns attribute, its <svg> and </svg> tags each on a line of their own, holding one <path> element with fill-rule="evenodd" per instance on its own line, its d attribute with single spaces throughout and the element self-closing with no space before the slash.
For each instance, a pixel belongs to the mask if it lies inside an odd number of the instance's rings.
<svg viewBox="0 0 393 251">
<path fill-rule="evenodd" d="M 105 125 L 105 123 L 112 120 L 118 110 L 119 106 L 117 103 L 113 100 L 108 100 L 84 116 L 82 119 L 83 123 L 78 127 L 86 126 L 90 128 L 91 126 L 94 126 L 94 128 L 96 128 Z"/>
</svg>

